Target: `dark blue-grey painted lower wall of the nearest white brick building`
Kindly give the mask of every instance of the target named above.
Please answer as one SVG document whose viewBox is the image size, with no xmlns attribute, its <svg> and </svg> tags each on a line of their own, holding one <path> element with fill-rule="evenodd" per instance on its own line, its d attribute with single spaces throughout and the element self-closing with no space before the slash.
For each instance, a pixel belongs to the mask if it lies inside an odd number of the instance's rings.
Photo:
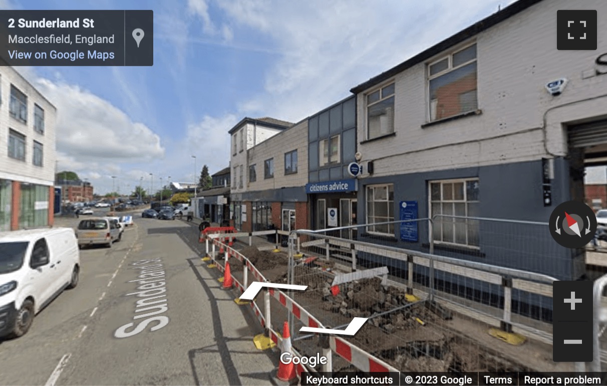
<svg viewBox="0 0 607 386">
<path fill-rule="evenodd" d="M 418 201 L 419 218 L 429 217 L 428 181 L 478 177 L 480 182 L 480 217 L 518 219 L 548 223 L 552 210 L 569 198 L 569 166 L 565 159 L 558 158 L 554 165 L 555 179 L 552 181 L 552 202 L 544 207 L 541 189 L 541 160 L 489 167 L 441 170 L 427 173 L 401 174 L 399 176 L 365 178 L 359 180 L 358 218 L 359 224 L 366 222 L 366 185 L 393 183 L 395 220 L 399 219 L 399 201 Z M 428 221 L 418 227 L 418 243 L 400 241 L 399 226 L 396 239 L 373 238 L 373 242 L 405 249 L 428 251 Z M 363 230 L 361 229 L 361 232 Z M 371 238 L 360 237 L 361 240 Z M 435 253 L 465 260 L 498 266 L 512 267 L 523 271 L 540 272 L 558 280 L 577 280 L 583 274 L 583 254 L 574 253 L 558 245 L 551 237 L 548 226 L 513 224 L 493 221 L 480 223 L 480 253 L 455 252 L 435 244 Z"/>
</svg>

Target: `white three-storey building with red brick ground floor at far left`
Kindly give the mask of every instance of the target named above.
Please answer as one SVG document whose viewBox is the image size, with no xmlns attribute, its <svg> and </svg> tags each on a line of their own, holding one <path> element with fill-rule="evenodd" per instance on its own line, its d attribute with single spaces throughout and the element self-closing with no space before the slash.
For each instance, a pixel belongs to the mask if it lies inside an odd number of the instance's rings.
<svg viewBox="0 0 607 386">
<path fill-rule="evenodd" d="M 0 67 L 0 231 L 52 225 L 56 108 Z"/>
</svg>

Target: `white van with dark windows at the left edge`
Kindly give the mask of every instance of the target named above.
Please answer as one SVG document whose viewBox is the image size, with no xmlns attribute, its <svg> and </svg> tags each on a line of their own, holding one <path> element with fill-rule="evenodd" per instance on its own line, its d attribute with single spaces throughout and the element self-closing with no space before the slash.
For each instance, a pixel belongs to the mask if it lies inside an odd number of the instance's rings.
<svg viewBox="0 0 607 386">
<path fill-rule="evenodd" d="M 0 232 L 0 337 L 27 333 L 38 314 L 80 274 L 71 228 Z"/>
</svg>

